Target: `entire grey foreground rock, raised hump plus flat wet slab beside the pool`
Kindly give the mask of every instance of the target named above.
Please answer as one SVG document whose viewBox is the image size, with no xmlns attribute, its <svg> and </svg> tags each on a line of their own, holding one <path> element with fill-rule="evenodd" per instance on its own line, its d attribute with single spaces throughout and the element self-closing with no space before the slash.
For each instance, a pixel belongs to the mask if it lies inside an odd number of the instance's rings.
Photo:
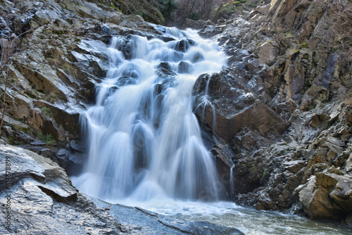
<svg viewBox="0 0 352 235">
<path fill-rule="evenodd" d="M 6 224 L 6 216 L 11 215 L 11 225 L 1 226 L 1 234 L 242 234 L 233 228 L 184 222 L 97 199 L 94 204 L 49 158 L 4 144 L 0 144 L 0 157 L 0 164 L 9 167 L 0 172 L 4 202 L 0 222 Z"/>
</svg>

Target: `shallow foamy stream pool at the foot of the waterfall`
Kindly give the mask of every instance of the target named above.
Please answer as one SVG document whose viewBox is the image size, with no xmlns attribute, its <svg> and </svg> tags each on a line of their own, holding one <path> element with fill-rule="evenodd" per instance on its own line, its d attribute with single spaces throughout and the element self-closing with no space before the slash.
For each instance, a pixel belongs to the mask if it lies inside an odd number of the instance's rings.
<svg viewBox="0 0 352 235">
<path fill-rule="evenodd" d="M 352 227 L 332 222 L 309 220 L 298 215 L 243 208 L 231 202 L 149 201 L 127 205 L 171 215 L 182 220 L 206 221 L 234 227 L 253 235 L 350 235 Z"/>
</svg>

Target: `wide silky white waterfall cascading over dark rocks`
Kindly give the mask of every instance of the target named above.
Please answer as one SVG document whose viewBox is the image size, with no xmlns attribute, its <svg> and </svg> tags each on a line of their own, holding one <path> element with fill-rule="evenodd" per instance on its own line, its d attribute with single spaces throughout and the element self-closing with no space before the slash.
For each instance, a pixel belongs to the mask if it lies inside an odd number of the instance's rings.
<svg viewBox="0 0 352 235">
<path fill-rule="evenodd" d="M 194 82 L 227 59 L 195 31 L 165 28 L 170 38 L 114 37 L 111 69 L 96 104 L 81 115 L 87 136 L 80 191 L 105 201 L 165 196 L 216 200 L 221 184 L 192 113 Z"/>
</svg>

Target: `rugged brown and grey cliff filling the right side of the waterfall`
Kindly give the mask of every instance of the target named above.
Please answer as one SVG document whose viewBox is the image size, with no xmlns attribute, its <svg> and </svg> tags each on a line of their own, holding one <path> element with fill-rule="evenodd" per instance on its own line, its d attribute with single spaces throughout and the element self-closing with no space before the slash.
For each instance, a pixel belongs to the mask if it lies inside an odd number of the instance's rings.
<svg viewBox="0 0 352 235">
<path fill-rule="evenodd" d="M 230 68 L 199 77 L 194 110 L 237 203 L 351 224 L 351 18 L 351 1 L 272 0 L 201 30 Z"/>
</svg>

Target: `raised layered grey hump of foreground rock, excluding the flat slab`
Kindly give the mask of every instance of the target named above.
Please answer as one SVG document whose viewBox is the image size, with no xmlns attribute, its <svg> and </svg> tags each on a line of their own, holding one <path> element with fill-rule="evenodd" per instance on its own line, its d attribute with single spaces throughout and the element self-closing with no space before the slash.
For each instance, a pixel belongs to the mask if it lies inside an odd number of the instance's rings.
<svg viewBox="0 0 352 235">
<path fill-rule="evenodd" d="M 123 231 L 119 222 L 76 191 L 65 171 L 56 163 L 13 146 L 1 145 L 0 154 L 1 161 L 11 160 L 12 180 L 8 189 L 11 190 L 11 205 L 16 205 L 11 206 L 11 227 L 9 230 L 1 227 L 2 234 L 14 231 L 23 234 Z M 0 195 L 4 198 L 5 172 L 0 177 Z M 1 213 L 5 215 L 4 207 Z M 99 226 L 102 223 L 106 223 L 104 228 Z"/>
</svg>

